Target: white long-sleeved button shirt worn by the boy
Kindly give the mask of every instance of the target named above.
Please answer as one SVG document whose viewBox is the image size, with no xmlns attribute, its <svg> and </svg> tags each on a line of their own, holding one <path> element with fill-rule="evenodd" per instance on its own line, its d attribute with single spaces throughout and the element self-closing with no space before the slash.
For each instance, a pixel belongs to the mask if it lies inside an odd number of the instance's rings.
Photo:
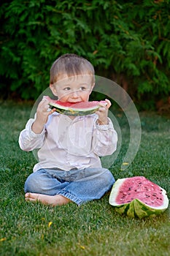
<svg viewBox="0 0 170 256">
<path fill-rule="evenodd" d="M 69 116 L 53 113 L 41 134 L 31 130 L 34 119 L 20 132 L 19 144 L 24 151 L 39 148 L 39 162 L 34 171 L 41 168 L 60 168 L 70 170 L 74 167 L 101 167 L 99 157 L 111 155 L 117 148 L 117 132 L 112 121 L 109 124 L 96 124 L 96 114 Z"/>
</svg>

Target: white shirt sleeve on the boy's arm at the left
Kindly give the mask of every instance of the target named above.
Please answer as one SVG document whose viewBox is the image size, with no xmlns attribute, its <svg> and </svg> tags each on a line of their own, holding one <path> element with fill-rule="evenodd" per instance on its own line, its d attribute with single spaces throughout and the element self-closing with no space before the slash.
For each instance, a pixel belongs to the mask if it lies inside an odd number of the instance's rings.
<svg viewBox="0 0 170 256">
<path fill-rule="evenodd" d="M 34 123 L 34 118 L 28 120 L 26 128 L 20 132 L 19 145 L 23 151 L 32 151 L 36 148 L 41 148 L 45 140 L 45 127 L 40 134 L 32 131 L 31 127 Z"/>
</svg>

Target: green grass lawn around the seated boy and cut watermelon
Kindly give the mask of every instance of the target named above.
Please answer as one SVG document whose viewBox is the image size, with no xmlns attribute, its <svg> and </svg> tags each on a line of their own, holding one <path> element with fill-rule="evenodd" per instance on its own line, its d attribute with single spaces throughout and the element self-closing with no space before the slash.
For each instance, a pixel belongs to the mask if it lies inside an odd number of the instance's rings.
<svg viewBox="0 0 170 256">
<path fill-rule="evenodd" d="M 23 185 L 36 159 L 18 146 L 18 135 L 31 105 L 1 102 L 0 255 L 138 255 L 170 253 L 169 208 L 153 219 L 120 216 L 109 205 L 109 193 L 83 206 L 50 207 L 26 203 Z M 142 141 L 134 162 L 120 170 L 121 157 L 110 169 L 115 178 L 145 176 L 166 189 L 170 198 L 170 119 L 140 113 Z M 117 115 L 125 135 L 123 116 Z M 123 148 L 126 146 L 123 137 Z"/>
</svg>

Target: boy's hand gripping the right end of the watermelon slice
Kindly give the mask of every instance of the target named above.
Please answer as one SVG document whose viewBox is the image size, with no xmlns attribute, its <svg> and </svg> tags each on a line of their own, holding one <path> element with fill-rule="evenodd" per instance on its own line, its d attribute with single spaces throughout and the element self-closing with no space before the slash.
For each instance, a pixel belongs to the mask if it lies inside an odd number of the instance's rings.
<svg viewBox="0 0 170 256">
<path fill-rule="evenodd" d="M 107 102 L 107 105 L 104 105 L 104 103 L 100 103 L 100 108 L 96 111 L 96 114 L 98 115 L 98 124 L 99 125 L 106 125 L 108 124 L 108 110 L 109 107 L 112 105 L 109 99 L 105 99 Z"/>
</svg>

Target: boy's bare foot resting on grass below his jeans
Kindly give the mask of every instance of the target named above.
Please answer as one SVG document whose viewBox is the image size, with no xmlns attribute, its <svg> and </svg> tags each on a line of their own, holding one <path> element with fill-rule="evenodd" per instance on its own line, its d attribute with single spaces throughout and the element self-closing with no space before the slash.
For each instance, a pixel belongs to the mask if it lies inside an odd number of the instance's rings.
<svg viewBox="0 0 170 256">
<path fill-rule="evenodd" d="M 45 205 L 61 206 L 71 202 L 69 198 L 63 197 L 63 195 L 43 195 L 36 193 L 26 193 L 26 201 L 36 202 L 39 201 Z"/>
</svg>

